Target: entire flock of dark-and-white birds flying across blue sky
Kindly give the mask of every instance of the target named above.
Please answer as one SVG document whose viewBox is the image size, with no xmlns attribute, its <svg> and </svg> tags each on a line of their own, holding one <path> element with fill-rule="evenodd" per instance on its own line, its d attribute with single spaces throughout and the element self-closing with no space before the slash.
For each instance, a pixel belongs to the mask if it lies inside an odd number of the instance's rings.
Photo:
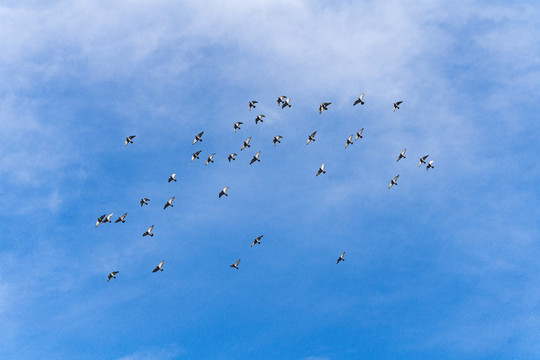
<svg viewBox="0 0 540 360">
<path fill-rule="evenodd" d="M 399 109 L 399 105 L 402 104 L 403 101 L 397 101 L 394 103 L 394 112 L 396 111 L 396 109 Z M 251 109 L 255 109 L 257 107 L 257 104 L 258 102 L 255 101 L 255 100 L 252 100 L 249 102 L 249 111 L 251 111 Z M 286 108 L 286 107 L 291 107 L 291 99 L 288 98 L 287 96 L 279 96 L 278 99 L 277 99 L 277 104 L 278 106 L 281 106 L 282 109 Z M 331 105 L 332 103 L 331 102 L 323 102 L 319 105 L 319 114 L 322 114 L 324 111 L 328 111 L 328 107 Z M 356 106 L 356 105 L 364 105 L 364 94 L 360 95 L 360 97 L 358 99 L 356 99 L 353 103 L 353 106 Z M 255 124 L 257 125 L 259 122 L 264 122 L 264 117 L 265 115 L 258 115 L 256 118 L 255 118 Z M 236 132 L 237 130 L 240 130 L 240 126 L 243 125 L 242 122 L 236 122 L 234 123 L 233 125 L 233 130 L 234 132 Z M 351 134 L 351 136 L 349 136 L 345 142 L 345 149 L 347 149 L 347 147 L 349 145 L 352 145 L 353 144 L 353 137 L 354 137 L 354 141 L 357 141 L 358 139 L 362 139 L 363 136 L 362 136 L 362 132 L 364 131 L 364 128 L 360 129 L 359 131 L 356 132 L 356 136 L 354 134 Z M 317 131 L 314 131 L 313 133 L 311 133 L 309 136 L 308 136 L 308 139 L 307 139 L 307 142 L 306 142 L 306 145 L 309 145 L 311 142 L 314 142 L 315 141 L 315 135 L 317 134 Z M 201 131 L 200 133 L 198 133 L 197 135 L 195 135 L 195 138 L 193 140 L 193 145 L 195 145 L 196 143 L 198 142 L 202 142 L 203 141 L 203 135 L 204 135 L 204 131 Z M 133 139 L 136 137 L 136 135 L 131 135 L 131 136 L 128 136 L 126 137 L 125 139 L 125 143 L 124 143 L 124 146 L 127 147 L 128 144 L 133 144 Z M 283 139 L 283 136 L 281 135 L 277 135 L 274 137 L 273 139 L 273 144 L 274 146 L 276 146 L 276 144 L 280 144 L 281 143 L 281 139 Z M 250 141 L 251 141 L 251 137 L 247 138 L 246 140 L 244 140 L 244 142 L 242 143 L 242 147 L 240 148 L 240 151 L 244 150 L 245 148 L 249 148 L 251 147 L 250 145 Z M 401 159 L 406 159 L 405 157 L 405 153 L 406 153 L 407 149 L 403 149 L 403 151 L 398 155 L 398 158 L 396 160 L 396 162 L 400 161 Z M 202 150 L 197 150 L 196 152 L 194 152 L 192 154 L 192 157 L 191 157 L 191 161 L 193 162 L 194 160 L 198 160 L 199 159 L 199 155 L 201 154 Z M 214 162 L 214 156 L 216 154 L 213 153 L 211 154 L 210 156 L 208 156 L 208 158 L 206 159 L 206 165 L 210 164 L 210 163 L 213 163 Z M 250 161 L 250 165 L 252 165 L 253 163 L 255 162 L 260 162 L 260 155 L 261 155 L 261 152 L 257 152 L 257 154 L 255 154 L 253 156 L 253 158 L 251 159 Z M 231 162 L 231 161 L 234 161 L 236 160 L 236 156 L 238 156 L 237 154 L 235 153 L 231 153 L 229 154 L 228 156 L 228 161 Z M 419 167 L 421 167 L 422 165 L 425 165 L 426 164 L 426 159 L 428 158 L 429 155 L 425 155 L 425 156 L 422 156 L 420 158 L 420 163 L 419 163 Z M 433 169 L 434 166 L 433 166 L 433 160 L 429 161 L 426 165 L 426 171 L 429 171 L 429 169 Z M 323 163 L 321 165 L 321 167 L 318 169 L 317 173 L 315 174 L 315 176 L 319 176 L 321 174 L 326 174 L 326 171 L 325 171 L 325 163 Z M 390 189 L 392 186 L 396 185 L 397 186 L 397 180 L 399 178 L 399 174 L 396 175 L 392 180 L 390 180 L 390 184 L 388 185 L 388 189 Z M 169 180 L 168 182 L 170 183 L 171 181 L 174 181 L 176 182 L 176 174 L 171 174 L 170 177 L 169 177 Z M 229 196 L 227 194 L 227 190 L 229 189 L 229 187 L 225 187 L 223 188 L 219 194 L 218 194 L 218 197 L 221 198 L 222 196 Z M 165 205 L 163 206 L 163 209 L 167 209 L 168 207 L 173 207 L 173 201 L 174 201 L 174 196 L 171 197 L 166 203 Z M 142 198 L 140 200 L 140 205 L 141 207 L 146 205 L 148 206 L 148 202 L 150 201 L 150 199 L 148 198 Z M 111 223 L 112 222 L 112 216 L 113 214 L 103 214 L 101 215 L 100 217 L 97 218 L 97 222 L 96 222 L 96 227 L 99 226 L 100 224 L 106 224 L 106 223 Z M 116 219 L 115 223 L 125 223 L 126 222 L 126 216 L 127 216 L 127 212 L 125 214 L 123 214 L 122 216 L 119 216 L 118 219 Z M 150 237 L 153 237 L 154 234 L 152 233 L 152 230 L 154 229 L 154 225 L 150 226 L 143 234 L 142 236 L 150 236 Z M 257 238 L 255 238 L 253 240 L 253 243 L 251 244 L 251 247 L 257 245 L 257 244 L 261 244 L 261 239 L 264 235 L 260 235 L 258 236 Z M 337 259 L 337 262 L 336 264 L 339 264 L 341 261 L 345 261 L 345 251 L 343 253 L 341 253 L 341 255 L 339 256 L 339 258 Z M 163 264 L 165 263 L 164 260 L 162 260 L 155 268 L 152 272 L 158 272 L 158 271 L 163 271 Z M 234 269 L 238 269 L 238 265 L 240 264 L 240 259 L 238 259 L 236 262 L 234 262 L 233 264 L 229 265 L 229 267 L 231 268 L 234 268 Z M 109 282 L 111 279 L 116 279 L 116 274 L 118 274 L 119 271 L 113 271 L 111 273 L 109 273 L 108 277 L 107 277 L 107 282 Z"/>
</svg>

